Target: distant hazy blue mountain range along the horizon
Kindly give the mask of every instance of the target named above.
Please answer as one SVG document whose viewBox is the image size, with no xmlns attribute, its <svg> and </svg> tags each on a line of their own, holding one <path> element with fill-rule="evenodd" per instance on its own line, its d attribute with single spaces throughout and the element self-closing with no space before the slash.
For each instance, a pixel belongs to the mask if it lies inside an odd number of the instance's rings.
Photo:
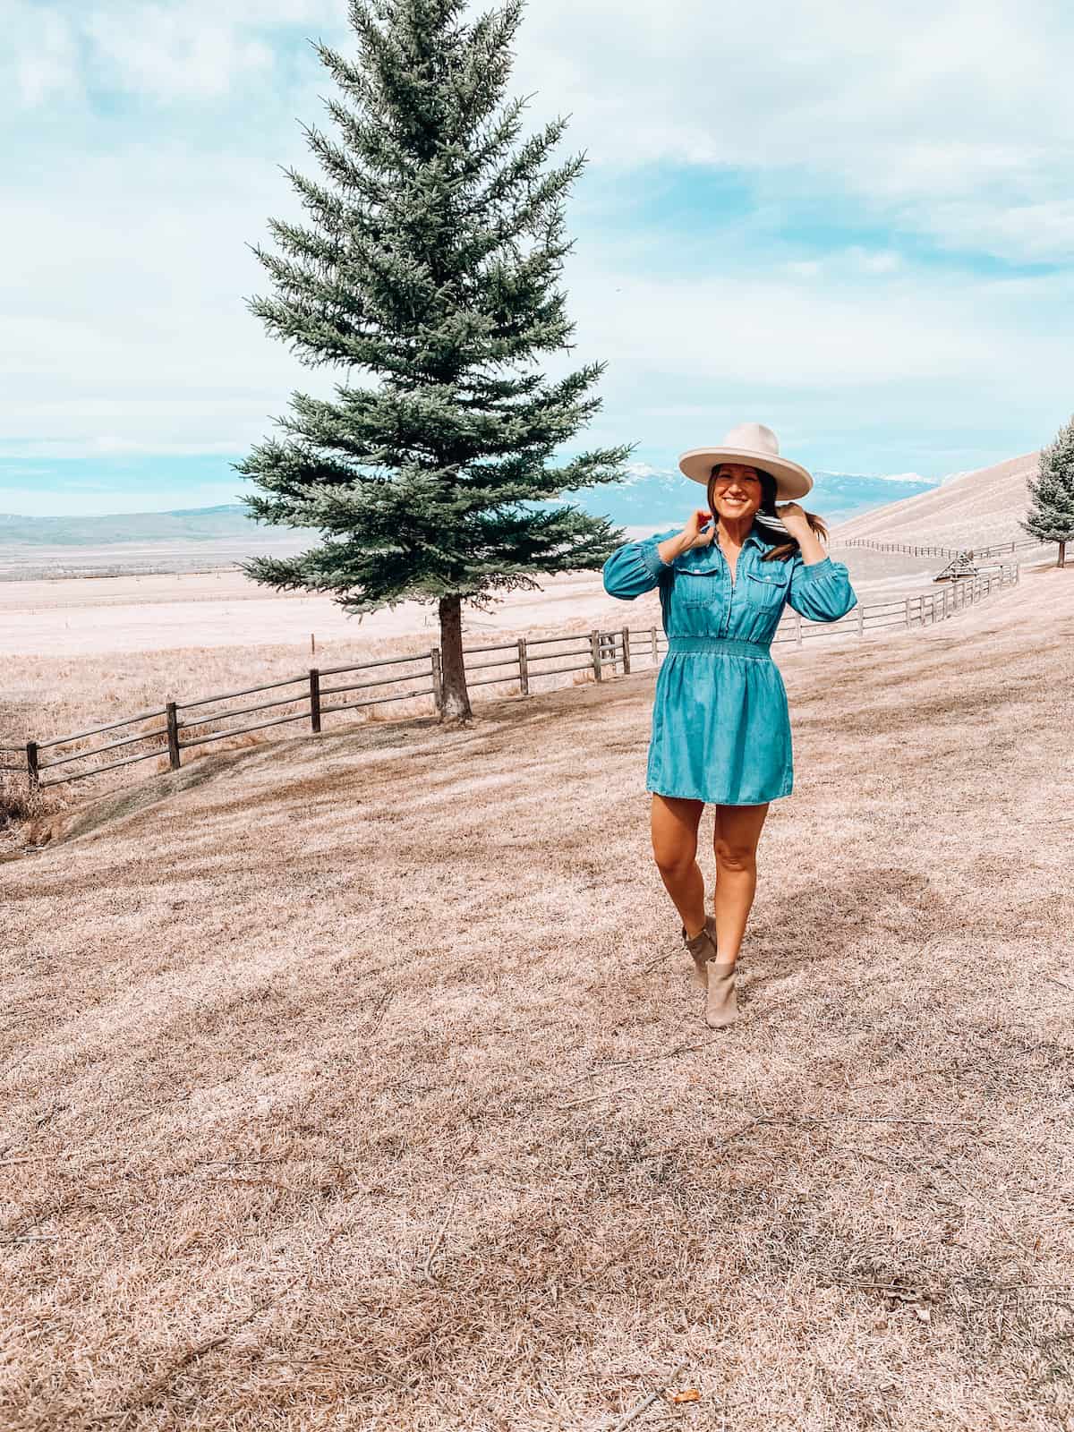
<svg viewBox="0 0 1074 1432">
<path fill-rule="evenodd" d="M 904 497 L 916 497 L 941 484 L 918 477 L 855 477 L 848 473 L 815 473 L 815 487 L 805 498 L 808 511 L 819 513 L 828 523 L 846 521 Z M 589 487 L 564 493 L 536 507 L 580 507 L 594 517 L 609 517 L 617 527 L 670 527 L 689 517 L 692 504 L 703 503 L 699 483 L 682 473 L 660 471 L 644 464 L 630 470 L 624 483 Z M 284 538 L 294 541 L 286 527 L 255 523 L 239 504 L 192 507 L 172 513 L 120 513 L 100 517 L 14 517 L 0 513 L 3 547 L 105 547 L 127 543 L 211 543 L 241 541 L 251 551 Z"/>
</svg>

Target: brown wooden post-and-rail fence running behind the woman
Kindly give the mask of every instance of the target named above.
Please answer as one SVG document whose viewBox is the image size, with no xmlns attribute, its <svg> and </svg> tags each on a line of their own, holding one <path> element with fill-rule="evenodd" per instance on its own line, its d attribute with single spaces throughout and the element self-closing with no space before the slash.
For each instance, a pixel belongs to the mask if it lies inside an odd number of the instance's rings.
<svg viewBox="0 0 1074 1432">
<path fill-rule="evenodd" d="M 796 611 L 786 609 L 773 646 L 800 647 L 823 637 L 861 639 L 869 632 L 932 626 L 1017 581 L 1018 566 L 1010 564 L 1000 571 L 979 574 L 938 591 L 934 589 L 908 597 L 892 597 L 865 607 L 859 604 L 838 621 L 805 621 Z M 518 686 L 518 696 L 526 697 L 533 695 L 534 683 L 546 676 L 587 672 L 593 680 L 603 682 L 609 676 L 629 676 L 636 663 L 654 669 L 666 650 L 667 637 L 660 627 L 632 630 L 624 626 L 619 630 L 518 637 L 514 642 L 470 646 L 463 649 L 463 656 L 481 657 L 465 662 L 468 687 L 513 682 Z M 475 672 L 497 672 L 497 674 L 474 677 Z M 404 690 L 384 690 L 411 682 L 418 684 L 407 684 Z M 269 692 L 279 695 L 261 700 Z M 258 700 L 238 706 L 225 705 L 243 702 L 248 696 Z M 434 710 L 442 709 L 441 656 L 437 646 L 412 656 L 314 667 L 298 676 L 248 686 L 238 692 L 198 696 L 188 702 L 165 700 L 155 710 L 139 712 L 136 716 L 126 716 L 105 726 L 92 726 L 70 736 L 27 740 L 20 746 L 0 746 L 0 770 L 24 775 L 30 786 L 37 789 L 86 780 L 107 770 L 163 758 L 168 758 L 172 770 L 178 770 L 183 752 L 218 740 L 292 722 L 302 722 L 316 733 L 321 732 L 326 716 L 361 710 L 365 706 L 414 700 L 420 696 L 432 697 Z M 274 715 L 248 725 L 228 725 L 236 717 L 261 717 L 265 712 Z M 132 730 L 132 727 L 139 729 Z M 122 732 L 126 735 L 116 735 Z M 95 745 L 102 736 L 115 739 Z M 87 742 L 89 746 L 84 745 Z M 100 756 L 109 759 L 99 763 Z M 11 758 L 19 758 L 17 765 Z"/>
</svg>

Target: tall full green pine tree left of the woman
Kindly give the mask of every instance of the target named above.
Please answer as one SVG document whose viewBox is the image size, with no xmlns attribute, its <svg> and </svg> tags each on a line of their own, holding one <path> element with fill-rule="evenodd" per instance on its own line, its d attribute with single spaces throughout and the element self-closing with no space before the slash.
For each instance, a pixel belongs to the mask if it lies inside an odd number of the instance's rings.
<svg viewBox="0 0 1074 1432">
<path fill-rule="evenodd" d="M 331 401 L 294 392 L 281 437 L 236 470 L 265 495 L 256 520 L 321 544 L 246 571 L 329 591 L 354 613 L 435 601 L 442 717 L 468 720 L 463 601 L 596 570 L 624 533 L 573 505 L 523 508 L 614 483 L 633 445 L 550 464 L 600 408 L 607 367 L 557 381 L 536 355 L 570 349 L 556 281 L 573 241 L 563 199 L 581 172 L 550 150 L 557 119 L 523 142 L 527 99 L 501 105 L 523 0 L 464 24 L 465 0 L 351 0 L 357 57 L 316 42 L 338 86 L 338 137 L 302 126 L 324 179 L 288 169 L 308 225 L 269 221 L 253 246 L 275 296 L 249 308 L 308 367 L 347 369 Z M 372 387 L 352 387 L 369 375 Z M 365 379 L 368 381 L 368 379 Z"/>
</svg>

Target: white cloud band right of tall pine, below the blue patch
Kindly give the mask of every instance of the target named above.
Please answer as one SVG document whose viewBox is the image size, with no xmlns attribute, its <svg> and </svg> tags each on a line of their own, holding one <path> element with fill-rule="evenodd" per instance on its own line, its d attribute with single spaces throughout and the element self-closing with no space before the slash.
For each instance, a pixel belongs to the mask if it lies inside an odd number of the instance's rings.
<svg viewBox="0 0 1074 1432">
<path fill-rule="evenodd" d="M 952 377 L 1021 387 L 1048 364 L 1065 371 L 1065 332 L 1041 335 L 1025 311 L 1048 294 L 1068 298 L 1068 281 L 1025 281 L 1012 292 L 965 276 L 915 275 L 878 288 L 835 275 L 803 288 L 762 275 L 627 275 L 610 261 L 570 272 L 579 338 L 586 349 L 614 352 L 620 374 L 862 388 Z"/>
</svg>

